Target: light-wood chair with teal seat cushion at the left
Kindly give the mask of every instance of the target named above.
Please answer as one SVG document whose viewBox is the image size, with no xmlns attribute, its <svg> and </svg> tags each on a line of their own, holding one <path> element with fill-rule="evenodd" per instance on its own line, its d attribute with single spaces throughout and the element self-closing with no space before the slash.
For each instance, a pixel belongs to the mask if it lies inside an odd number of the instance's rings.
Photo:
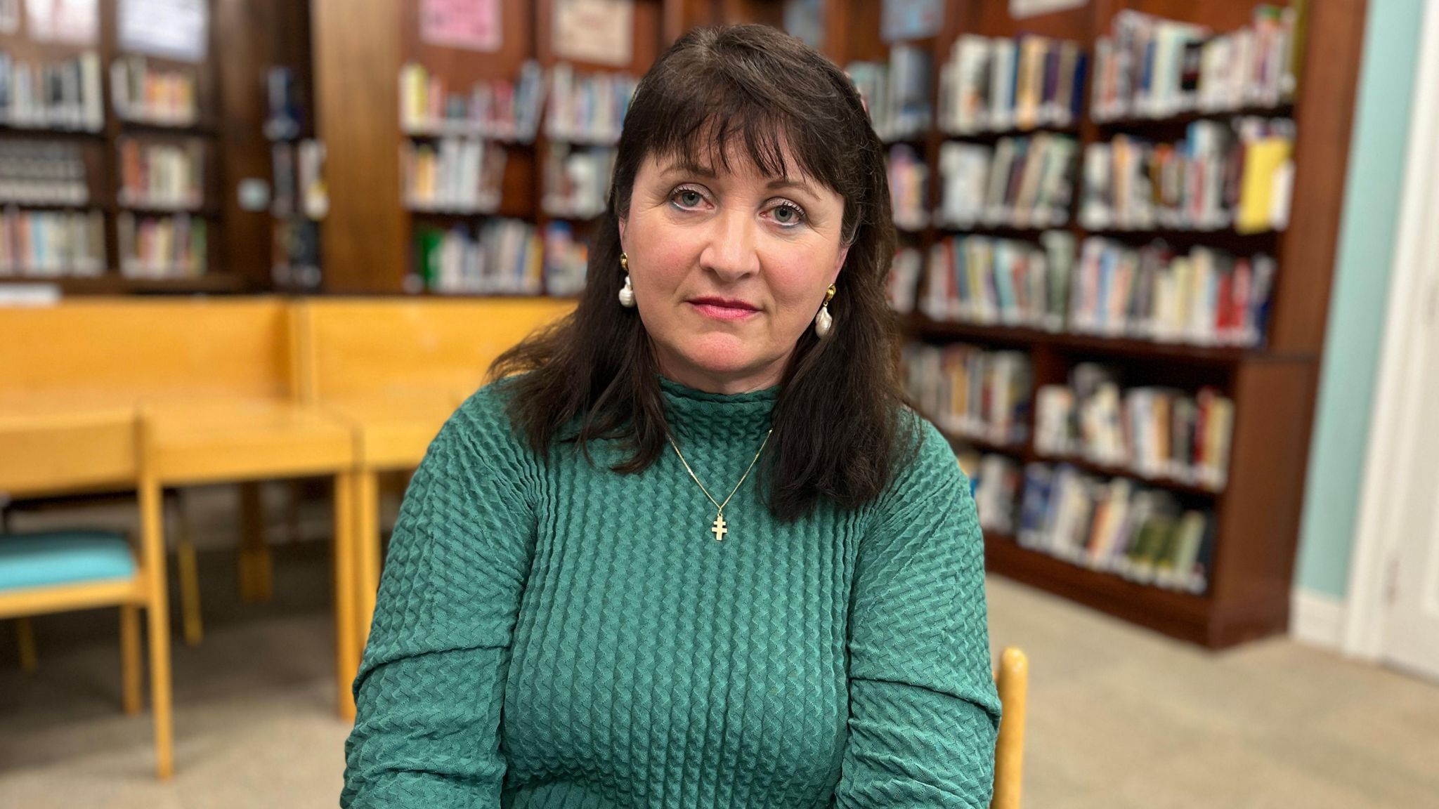
<svg viewBox="0 0 1439 809">
<path fill-rule="evenodd" d="M 22 654 L 33 615 L 119 606 L 121 694 L 141 708 L 140 609 L 150 622 L 150 690 L 155 772 L 174 772 L 170 698 L 170 615 L 160 535 L 160 487 L 150 469 L 150 430 L 131 407 L 58 415 L 0 407 L 0 491 L 32 495 L 131 487 L 138 492 L 140 543 L 109 531 L 0 535 L 0 618 L 16 618 Z"/>
</svg>

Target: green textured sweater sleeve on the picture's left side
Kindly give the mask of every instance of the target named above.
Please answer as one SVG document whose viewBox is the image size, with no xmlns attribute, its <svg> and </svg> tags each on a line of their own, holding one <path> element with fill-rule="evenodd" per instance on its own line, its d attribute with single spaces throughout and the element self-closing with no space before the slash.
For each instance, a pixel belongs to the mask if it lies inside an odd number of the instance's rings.
<svg viewBox="0 0 1439 809">
<path fill-rule="evenodd" d="M 344 808 L 499 806 L 499 715 L 534 535 L 502 416 L 492 396 L 472 397 L 404 495 L 354 684 Z"/>
</svg>

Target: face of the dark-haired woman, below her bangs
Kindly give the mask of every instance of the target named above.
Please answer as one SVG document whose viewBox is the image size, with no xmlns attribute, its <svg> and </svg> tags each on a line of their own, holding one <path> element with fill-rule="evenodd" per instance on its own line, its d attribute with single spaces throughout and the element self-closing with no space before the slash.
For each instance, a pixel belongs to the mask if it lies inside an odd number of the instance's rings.
<svg viewBox="0 0 1439 809">
<path fill-rule="evenodd" d="M 650 157 L 619 223 L 661 373 L 712 393 L 778 384 L 848 253 L 836 191 L 764 176 L 743 150 L 728 163 Z"/>
</svg>

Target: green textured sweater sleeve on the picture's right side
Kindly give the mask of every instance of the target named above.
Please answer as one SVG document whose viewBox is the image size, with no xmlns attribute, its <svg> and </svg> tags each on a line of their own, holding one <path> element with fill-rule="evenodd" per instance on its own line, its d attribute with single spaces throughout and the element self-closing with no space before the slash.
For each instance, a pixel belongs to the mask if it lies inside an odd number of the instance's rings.
<svg viewBox="0 0 1439 809">
<path fill-rule="evenodd" d="M 928 422 L 918 432 L 861 540 L 839 808 L 984 809 L 993 792 L 1000 705 L 979 517 L 948 443 Z"/>
</svg>

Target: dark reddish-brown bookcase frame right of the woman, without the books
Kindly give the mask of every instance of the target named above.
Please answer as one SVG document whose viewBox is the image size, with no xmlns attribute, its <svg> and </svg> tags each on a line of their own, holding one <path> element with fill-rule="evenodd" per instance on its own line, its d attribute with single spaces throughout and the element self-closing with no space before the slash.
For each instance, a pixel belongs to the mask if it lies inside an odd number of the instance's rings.
<svg viewBox="0 0 1439 809">
<path fill-rule="evenodd" d="M 922 315 L 905 315 L 902 325 L 911 340 L 945 344 L 971 343 L 989 348 L 1025 351 L 1035 371 L 1035 389 L 1068 381 L 1081 361 L 1101 361 L 1122 369 L 1125 384 L 1157 384 L 1193 393 L 1215 387 L 1235 402 L 1235 425 L 1227 482 L 1223 491 L 1209 491 L 1184 481 L 1147 479 L 1127 469 L 1112 469 L 1076 459 L 1040 458 L 1029 442 L 994 443 L 953 435 L 957 446 L 994 452 L 1017 461 L 1066 462 L 1101 476 L 1128 476 L 1150 488 L 1173 492 L 1181 501 L 1213 508 L 1217 520 L 1216 550 L 1209 590 L 1191 596 L 1138 584 L 1118 576 L 1089 570 L 1025 550 L 1010 537 L 987 535 L 989 569 L 1019 582 L 1108 612 L 1125 620 L 1210 648 L 1230 646 L 1253 638 L 1285 632 L 1289 589 L 1298 537 L 1301 497 L 1308 461 L 1309 428 L 1324 320 L 1328 307 L 1340 225 L 1344 173 L 1348 154 L 1350 119 L 1360 63 L 1364 0 L 1309 1 L 1305 63 L 1294 104 L 1242 108 L 1222 112 L 1186 112 L 1163 119 L 1124 118 L 1094 121 L 1088 95 L 1094 81 L 1094 43 L 1109 30 L 1122 9 L 1160 17 L 1202 23 L 1215 32 L 1245 26 L 1256 0 L 1236 3 L 1186 3 L 1183 0 L 1095 0 L 1078 9 L 1012 19 L 1009 0 L 945 3 L 943 29 L 932 40 L 935 73 L 950 46 L 963 33 L 1014 37 L 1022 33 L 1079 42 L 1089 53 L 1085 75 L 1085 104 L 1076 125 L 1039 127 L 1003 132 L 948 135 L 931 128 L 915 144 L 931 167 L 930 209 L 938 203 L 940 181 L 934 167 L 938 148 L 947 140 L 993 144 L 1004 137 L 1050 131 L 1076 137 L 1084 145 L 1107 141 L 1115 134 L 1171 141 L 1184 137 L 1194 121 L 1226 121 L 1242 115 L 1285 117 L 1295 121 L 1295 189 L 1289 226 L 1279 233 L 1235 233 L 1200 230 L 1112 230 L 1102 235 L 1115 242 L 1141 246 L 1156 239 L 1174 249 L 1210 246 L 1235 255 L 1268 252 L 1278 261 L 1266 341 L 1259 348 L 1153 343 L 1127 337 L 1052 333 L 1036 328 L 968 322 L 937 322 Z M 758 22 L 780 24 L 783 4 L 768 0 L 724 0 L 705 22 Z M 889 43 L 879 39 L 881 3 L 829 0 L 825 3 L 825 52 L 839 65 L 853 59 L 882 60 Z M 859 24 L 863 22 L 863 24 Z M 935 105 L 937 112 L 937 105 Z M 914 143 L 914 138 L 908 138 Z M 1082 155 L 1082 153 L 1081 153 Z M 1081 191 L 1075 177 L 1075 196 Z M 1076 242 L 1091 233 L 1071 223 L 1061 227 Z M 1043 230 L 1006 226 L 935 226 L 901 233 L 899 243 L 927 249 L 948 235 L 987 235 L 1036 242 Z M 1033 402 L 1030 403 L 1030 413 Z M 1030 430 L 1032 432 L 1032 430 Z"/>
</svg>

